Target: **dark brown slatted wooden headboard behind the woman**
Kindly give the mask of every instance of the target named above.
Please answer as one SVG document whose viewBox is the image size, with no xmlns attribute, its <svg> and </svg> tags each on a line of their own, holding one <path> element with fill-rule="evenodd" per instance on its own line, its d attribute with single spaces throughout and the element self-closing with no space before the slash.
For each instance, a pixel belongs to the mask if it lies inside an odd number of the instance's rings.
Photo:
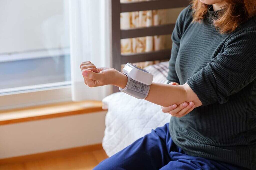
<svg viewBox="0 0 256 170">
<path fill-rule="evenodd" d="M 169 9 L 186 7 L 188 5 L 188 0 L 153 0 L 131 3 L 120 3 L 120 0 L 112 0 L 112 67 L 120 71 L 121 64 L 126 64 L 127 62 L 134 63 L 165 60 L 169 59 L 171 54 L 170 49 L 151 51 L 146 53 L 121 54 L 121 39 L 172 34 L 175 27 L 175 24 L 165 24 L 152 27 L 121 30 L 121 12 Z M 119 91 L 118 88 L 114 88 L 114 92 L 116 91 Z"/>
</svg>

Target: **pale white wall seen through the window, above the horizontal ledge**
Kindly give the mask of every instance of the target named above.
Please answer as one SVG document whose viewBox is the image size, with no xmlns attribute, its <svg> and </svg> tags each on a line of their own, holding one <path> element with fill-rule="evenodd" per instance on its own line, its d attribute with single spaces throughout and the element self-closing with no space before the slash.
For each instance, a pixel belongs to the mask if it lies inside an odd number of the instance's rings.
<svg viewBox="0 0 256 170">
<path fill-rule="evenodd" d="M 69 47 L 67 0 L 0 0 L 0 54 Z"/>
</svg>

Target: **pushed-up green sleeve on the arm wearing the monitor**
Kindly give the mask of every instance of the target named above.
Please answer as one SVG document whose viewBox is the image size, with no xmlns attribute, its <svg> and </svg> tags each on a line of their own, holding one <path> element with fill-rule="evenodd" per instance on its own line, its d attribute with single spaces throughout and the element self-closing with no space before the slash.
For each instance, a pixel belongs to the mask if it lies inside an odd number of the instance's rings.
<svg viewBox="0 0 256 170">
<path fill-rule="evenodd" d="M 187 80 L 203 106 L 228 101 L 256 79 L 256 27 L 235 35 L 225 43 L 223 53 Z"/>
</svg>

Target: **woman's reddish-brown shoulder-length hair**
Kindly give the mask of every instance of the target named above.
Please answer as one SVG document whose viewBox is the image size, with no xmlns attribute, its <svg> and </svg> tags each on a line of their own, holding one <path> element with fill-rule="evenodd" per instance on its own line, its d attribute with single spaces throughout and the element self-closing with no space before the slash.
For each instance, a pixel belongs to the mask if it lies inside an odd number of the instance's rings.
<svg viewBox="0 0 256 170">
<path fill-rule="evenodd" d="M 221 1 L 221 0 L 220 0 Z M 221 34 L 233 32 L 239 25 L 256 15 L 256 0 L 223 0 L 227 2 L 213 21 Z M 192 0 L 193 22 L 205 18 L 209 5 L 200 0 Z"/>
</svg>

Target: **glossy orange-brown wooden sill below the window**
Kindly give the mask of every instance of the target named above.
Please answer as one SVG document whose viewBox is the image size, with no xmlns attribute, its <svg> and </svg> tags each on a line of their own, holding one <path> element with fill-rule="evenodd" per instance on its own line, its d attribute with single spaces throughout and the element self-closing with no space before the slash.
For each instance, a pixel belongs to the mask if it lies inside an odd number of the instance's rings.
<svg viewBox="0 0 256 170">
<path fill-rule="evenodd" d="M 101 101 L 86 100 L 0 111 L 0 125 L 104 111 Z"/>
</svg>

